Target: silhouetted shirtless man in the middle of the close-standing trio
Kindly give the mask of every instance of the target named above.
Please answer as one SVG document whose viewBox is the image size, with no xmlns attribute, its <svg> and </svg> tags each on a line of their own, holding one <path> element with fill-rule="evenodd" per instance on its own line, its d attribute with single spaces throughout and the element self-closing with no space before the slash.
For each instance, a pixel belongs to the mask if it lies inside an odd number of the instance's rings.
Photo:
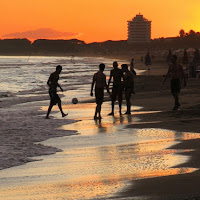
<svg viewBox="0 0 200 200">
<path fill-rule="evenodd" d="M 111 105 L 112 105 L 112 111 L 109 115 L 114 115 L 114 106 L 115 106 L 115 101 L 118 97 L 118 103 L 119 103 L 119 114 L 121 115 L 121 109 L 122 109 L 122 77 L 123 77 L 123 72 L 121 69 L 118 68 L 118 63 L 115 61 L 113 62 L 113 68 L 110 71 L 110 78 L 108 81 L 108 87 L 110 85 L 110 82 L 113 78 L 113 88 L 112 88 L 112 95 L 111 95 Z"/>
</svg>

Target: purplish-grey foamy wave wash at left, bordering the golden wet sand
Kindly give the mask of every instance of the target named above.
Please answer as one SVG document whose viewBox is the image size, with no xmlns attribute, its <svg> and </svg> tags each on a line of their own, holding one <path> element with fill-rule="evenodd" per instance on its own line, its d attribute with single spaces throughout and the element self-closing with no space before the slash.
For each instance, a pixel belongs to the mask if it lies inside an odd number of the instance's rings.
<svg viewBox="0 0 200 200">
<path fill-rule="evenodd" d="M 58 130 L 63 124 L 74 123 L 76 120 L 45 119 L 46 112 L 40 110 L 44 99 L 45 97 L 10 97 L 1 102 L 0 170 L 35 161 L 35 156 L 61 151 L 55 147 L 37 144 L 38 142 L 77 134 L 77 131 Z"/>
</svg>

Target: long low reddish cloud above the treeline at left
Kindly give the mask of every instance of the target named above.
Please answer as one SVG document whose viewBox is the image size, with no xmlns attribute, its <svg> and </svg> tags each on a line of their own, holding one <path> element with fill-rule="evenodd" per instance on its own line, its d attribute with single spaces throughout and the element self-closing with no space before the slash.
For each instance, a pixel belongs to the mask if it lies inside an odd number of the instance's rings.
<svg viewBox="0 0 200 200">
<path fill-rule="evenodd" d="M 16 32 L 3 35 L 2 38 L 27 38 L 30 40 L 36 39 L 69 39 L 78 37 L 79 33 L 60 32 L 51 28 L 40 28 L 32 31 Z"/>
</svg>

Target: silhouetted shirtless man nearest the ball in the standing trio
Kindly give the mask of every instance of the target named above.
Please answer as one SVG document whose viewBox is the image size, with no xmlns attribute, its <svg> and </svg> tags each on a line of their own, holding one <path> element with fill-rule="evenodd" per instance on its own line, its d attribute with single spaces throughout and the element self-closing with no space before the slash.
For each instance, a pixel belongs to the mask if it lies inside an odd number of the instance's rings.
<svg viewBox="0 0 200 200">
<path fill-rule="evenodd" d="M 101 117 L 101 106 L 103 104 L 103 98 L 104 98 L 104 88 L 106 87 L 107 92 L 109 92 L 108 85 L 106 84 L 106 75 L 103 73 L 105 69 L 105 64 L 101 63 L 99 65 L 99 71 L 94 74 L 92 85 L 91 85 L 91 92 L 90 96 L 93 96 L 93 88 L 95 85 L 95 97 L 96 97 L 96 110 L 94 115 L 94 120 L 102 119 Z M 98 117 L 97 117 L 98 114 Z"/>
</svg>

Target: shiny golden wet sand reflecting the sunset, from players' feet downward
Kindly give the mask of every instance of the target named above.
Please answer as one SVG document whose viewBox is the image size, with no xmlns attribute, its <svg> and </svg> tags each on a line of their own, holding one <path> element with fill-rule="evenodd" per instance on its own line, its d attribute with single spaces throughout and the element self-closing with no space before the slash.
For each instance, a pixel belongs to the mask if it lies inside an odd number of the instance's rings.
<svg viewBox="0 0 200 200">
<path fill-rule="evenodd" d="M 80 134 L 43 142 L 62 152 L 1 171 L 0 199 L 69 200 L 102 198 L 102 195 L 106 199 L 128 186 L 131 180 L 196 170 L 173 168 L 187 162 L 189 157 L 177 154 L 184 150 L 169 147 L 180 140 L 200 138 L 199 134 L 153 128 L 127 129 L 126 125 L 140 122 L 137 108 L 137 115 L 133 112 L 133 115 L 112 117 L 107 116 L 110 105 L 105 103 L 104 118 L 94 121 L 91 113 L 95 105 L 72 106 L 65 107 L 69 116 L 81 121 L 60 129 L 78 130 Z"/>
</svg>

